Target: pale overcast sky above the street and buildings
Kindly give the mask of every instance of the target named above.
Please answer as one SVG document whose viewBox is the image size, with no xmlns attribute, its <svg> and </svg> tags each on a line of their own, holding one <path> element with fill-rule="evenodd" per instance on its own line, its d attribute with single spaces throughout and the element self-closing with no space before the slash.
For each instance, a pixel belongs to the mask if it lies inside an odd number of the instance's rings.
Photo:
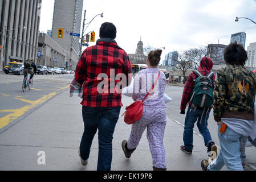
<svg viewBox="0 0 256 182">
<path fill-rule="evenodd" d="M 68 1 L 68 0 L 62 0 Z M 42 0 L 40 31 L 51 30 L 54 0 Z M 117 28 L 116 41 L 127 53 L 135 53 L 137 43 L 165 47 L 161 60 L 171 51 L 219 43 L 229 44 L 231 34 L 246 32 L 246 49 L 256 42 L 256 0 L 84 0 L 86 23 L 97 16 L 86 33 L 94 30 L 99 38 L 101 23 Z M 83 15 L 82 15 L 83 22 Z M 82 29 L 82 25 L 81 25 Z M 89 43 L 89 46 L 95 43 Z"/>
</svg>

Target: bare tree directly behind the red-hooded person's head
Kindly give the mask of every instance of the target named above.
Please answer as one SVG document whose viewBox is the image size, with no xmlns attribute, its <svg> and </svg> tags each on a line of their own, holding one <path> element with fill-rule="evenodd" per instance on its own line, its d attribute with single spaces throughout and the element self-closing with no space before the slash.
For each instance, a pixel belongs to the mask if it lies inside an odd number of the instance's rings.
<svg viewBox="0 0 256 182">
<path fill-rule="evenodd" d="M 194 68 L 197 69 L 200 65 L 200 61 L 203 57 L 208 56 L 207 46 L 200 46 L 198 48 L 191 48 L 185 51 L 188 59 L 193 61 Z"/>
</svg>

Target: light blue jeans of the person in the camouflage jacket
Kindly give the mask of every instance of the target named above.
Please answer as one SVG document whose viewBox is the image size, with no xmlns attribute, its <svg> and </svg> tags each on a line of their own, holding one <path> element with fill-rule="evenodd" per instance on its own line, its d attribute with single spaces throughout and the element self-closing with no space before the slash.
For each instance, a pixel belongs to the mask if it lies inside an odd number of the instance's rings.
<svg viewBox="0 0 256 182">
<path fill-rule="evenodd" d="M 247 137 L 235 133 L 226 127 L 224 134 L 220 133 L 221 125 L 218 125 L 218 138 L 221 144 L 221 150 L 216 158 L 216 161 L 212 162 L 208 166 L 209 171 L 219 171 L 224 165 L 230 171 L 243 171 L 240 142 L 241 140 L 246 140 Z"/>
</svg>

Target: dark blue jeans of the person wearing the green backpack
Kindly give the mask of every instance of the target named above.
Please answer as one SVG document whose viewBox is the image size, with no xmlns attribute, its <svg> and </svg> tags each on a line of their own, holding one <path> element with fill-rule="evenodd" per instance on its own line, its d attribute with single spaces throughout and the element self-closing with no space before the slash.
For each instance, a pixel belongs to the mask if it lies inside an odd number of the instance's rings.
<svg viewBox="0 0 256 182">
<path fill-rule="evenodd" d="M 200 133 L 204 137 L 205 146 L 208 147 L 209 143 L 213 142 L 210 131 L 207 127 L 210 111 L 206 112 L 205 110 L 204 114 L 203 111 L 204 110 L 202 109 L 196 109 L 193 111 L 193 109 L 188 108 L 188 111 L 186 112 L 185 127 L 183 133 L 183 142 L 186 149 L 193 150 L 193 128 L 194 123 L 196 122 Z"/>
</svg>

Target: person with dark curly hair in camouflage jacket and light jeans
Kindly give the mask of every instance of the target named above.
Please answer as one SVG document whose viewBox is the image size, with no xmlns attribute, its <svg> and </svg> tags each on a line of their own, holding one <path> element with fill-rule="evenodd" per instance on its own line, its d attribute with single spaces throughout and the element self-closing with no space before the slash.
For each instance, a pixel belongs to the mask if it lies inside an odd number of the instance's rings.
<svg viewBox="0 0 256 182">
<path fill-rule="evenodd" d="M 224 60 L 226 66 L 218 71 L 213 91 L 213 115 L 221 149 L 214 163 L 202 160 L 204 171 L 219 171 L 224 165 L 229 170 L 243 171 L 239 148 L 253 129 L 256 75 L 244 66 L 247 53 L 234 42 L 224 49 Z"/>
</svg>

